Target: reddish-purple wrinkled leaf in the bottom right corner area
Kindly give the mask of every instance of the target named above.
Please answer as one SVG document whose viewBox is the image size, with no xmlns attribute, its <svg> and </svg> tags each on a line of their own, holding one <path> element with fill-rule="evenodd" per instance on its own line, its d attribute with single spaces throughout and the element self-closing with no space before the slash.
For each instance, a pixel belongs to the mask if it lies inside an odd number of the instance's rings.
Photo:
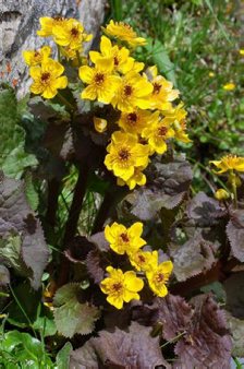
<svg viewBox="0 0 244 369">
<path fill-rule="evenodd" d="M 186 334 L 175 345 L 178 368 L 230 368 L 232 342 L 224 312 L 210 296 L 192 300 L 194 314 L 185 329 Z"/>
</svg>

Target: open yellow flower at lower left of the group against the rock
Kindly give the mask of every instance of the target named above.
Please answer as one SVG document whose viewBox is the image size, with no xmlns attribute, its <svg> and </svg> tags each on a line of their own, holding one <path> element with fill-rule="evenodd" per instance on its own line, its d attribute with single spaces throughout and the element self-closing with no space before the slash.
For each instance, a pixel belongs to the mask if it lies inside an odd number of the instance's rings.
<svg viewBox="0 0 244 369">
<path fill-rule="evenodd" d="M 54 97 L 59 88 L 68 85 L 66 76 L 61 76 L 63 72 L 63 66 L 52 59 L 47 59 L 41 66 L 30 67 L 29 74 L 34 80 L 30 92 L 45 98 Z"/>
</svg>

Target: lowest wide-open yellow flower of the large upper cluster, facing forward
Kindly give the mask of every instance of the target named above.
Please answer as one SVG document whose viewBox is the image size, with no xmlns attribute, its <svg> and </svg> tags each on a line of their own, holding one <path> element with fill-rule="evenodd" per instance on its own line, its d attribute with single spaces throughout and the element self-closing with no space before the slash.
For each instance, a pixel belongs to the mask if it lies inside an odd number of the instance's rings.
<svg viewBox="0 0 244 369">
<path fill-rule="evenodd" d="M 113 170 L 114 176 L 127 181 L 134 175 L 135 167 L 148 165 L 149 147 L 139 144 L 135 135 L 120 131 L 114 132 L 111 139 L 105 165 L 109 170 Z"/>
</svg>

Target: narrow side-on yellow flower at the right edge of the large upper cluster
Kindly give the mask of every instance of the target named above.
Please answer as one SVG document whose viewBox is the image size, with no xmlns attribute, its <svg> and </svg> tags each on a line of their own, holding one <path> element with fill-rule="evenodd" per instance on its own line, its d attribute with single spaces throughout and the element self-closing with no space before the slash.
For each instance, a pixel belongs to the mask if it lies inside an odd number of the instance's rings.
<svg viewBox="0 0 244 369">
<path fill-rule="evenodd" d="M 183 108 L 183 103 L 180 103 L 175 108 L 169 110 L 166 114 L 164 121 L 170 123 L 172 122 L 172 128 L 174 130 L 174 138 L 178 141 L 190 143 L 188 134 L 186 131 L 186 121 L 185 118 L 187 116 L 186 110 Z"/>
</svg>

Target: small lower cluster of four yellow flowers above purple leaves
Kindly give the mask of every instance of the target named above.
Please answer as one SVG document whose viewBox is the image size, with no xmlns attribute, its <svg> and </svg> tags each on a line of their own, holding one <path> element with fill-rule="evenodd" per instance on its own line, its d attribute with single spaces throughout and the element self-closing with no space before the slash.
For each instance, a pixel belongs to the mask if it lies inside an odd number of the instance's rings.
<svg viewBox="0 0 244 369">
<path fill-rule="evenodd" d="M 105 237 L 110 248 L 119 254 L 126 254 L 135 269 L 123 273 L 120 269 L 107 267 L 109 276 L 101 281 L 100 288 L 108 295 L 107 301 L 117 309 L 122 309 L 124 301 L 139 299 L 138 291 L 144 287 L 143 277 L 146 277 L 155 295 L 164 297 L 168 294 L 166 284 L 172 273 L 173 264 L 171 261 L 159 263 L 158 251 L 142 250 L 146 245 L 141 237 L 142 234 L 143 224 L 139 222 L 134 223 L 130 228 L 118 223 L 105 228 Z M 141 277 L 136 276 L 136 272 Z"/>
</svg>

